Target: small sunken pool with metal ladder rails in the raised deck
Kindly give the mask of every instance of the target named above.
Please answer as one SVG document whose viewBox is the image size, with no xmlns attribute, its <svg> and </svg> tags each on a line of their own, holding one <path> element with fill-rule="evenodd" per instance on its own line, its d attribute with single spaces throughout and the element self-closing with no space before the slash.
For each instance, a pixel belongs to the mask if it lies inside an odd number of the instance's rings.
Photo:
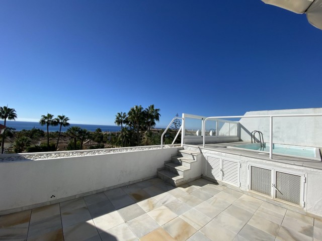
<svg viewBox="0 0 322 241">
<path fill-rule="evenodd" d="M 264 143 L 264 147 L 261 147 L 260 143 L 252 143 L 252 144 L 229 146 L 227 148 L 237 149 L 237 150 L 249 150 L 249 151 L 258 152 L 258 153 L 270 152 L 269 143 Z M 293 145 L 273 143 L 273 154 L 321 161 L 320 151 L 316 147 L 303 147 L 303 146 L 293 146 Z"/>
</svg>

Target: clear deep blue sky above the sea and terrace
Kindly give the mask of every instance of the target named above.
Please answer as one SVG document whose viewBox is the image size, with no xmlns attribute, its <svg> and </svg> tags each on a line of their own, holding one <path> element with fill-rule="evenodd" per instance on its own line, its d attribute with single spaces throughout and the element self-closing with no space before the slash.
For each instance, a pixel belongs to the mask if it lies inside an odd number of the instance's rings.
<svg viewBox="0 0 322 241">
<path fill-rule="evenodd" d="M 243 115 L 321 107 L 322 31 L 253 1 L 2 1 L 0 105 L 114 125 L 132 106 Z"/>
</svg>

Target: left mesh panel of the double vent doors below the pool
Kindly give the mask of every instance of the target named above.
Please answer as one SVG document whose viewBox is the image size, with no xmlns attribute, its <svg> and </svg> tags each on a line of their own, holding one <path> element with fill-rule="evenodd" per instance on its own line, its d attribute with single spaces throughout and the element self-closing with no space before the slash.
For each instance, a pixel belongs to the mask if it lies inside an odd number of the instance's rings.
<svg viewBox="0 0 322 241">
<path fill-rule="evenodd" d="M 252 166 L 251 172 L 251 190 L 271 196 L 271 170 Z"/>
</svg>

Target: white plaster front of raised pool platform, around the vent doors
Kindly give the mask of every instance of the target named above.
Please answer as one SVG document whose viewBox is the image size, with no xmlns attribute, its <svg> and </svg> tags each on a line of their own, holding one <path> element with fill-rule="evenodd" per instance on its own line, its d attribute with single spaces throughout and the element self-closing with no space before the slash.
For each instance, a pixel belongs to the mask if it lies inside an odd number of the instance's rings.
<svg viewBox="0 0 322 241">
<path fill-rule="evenodd" d="M 204 157 L 206 155 L 212 155 L 217 157 L 226 157 L 234 160 L 238 160 L 241 163 L 240 168 L 240 189 L 248 191 L 249 184 L 249 170 L 247 166 L 252 164 L 265 165 L 271 168 L 284 169 L 285 171 L 295 171 L 302 174 L 307 174 L 305 192 L 305 203 L 304 210 L 306 212 L 322 216 L 322 170 L 306 168 L 301 166 L 295 166 L 290 164 L 278 163 L 273 161 L 267 161 L 262 159 L 255 159 L 250 157 L 237 156 L 222 152 L 216 152 L 211 150 L 202 150 Z M 206 159 L 204 158 L 205 162 Z M 205 169 L 204 169 L 205 172 Z"/>
</svg>

